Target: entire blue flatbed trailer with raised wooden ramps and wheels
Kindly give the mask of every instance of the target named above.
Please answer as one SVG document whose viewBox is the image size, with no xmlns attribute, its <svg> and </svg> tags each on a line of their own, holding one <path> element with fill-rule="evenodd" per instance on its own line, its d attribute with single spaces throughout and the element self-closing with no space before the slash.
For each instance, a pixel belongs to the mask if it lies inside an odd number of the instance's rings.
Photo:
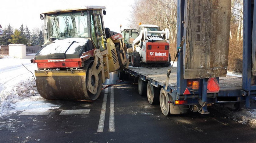
<svg viewBox="0 0 256 143">
<path fill-rule="evenodd" d="M 182 114 L 186 113 L 189 109 L 198 111 L 201 114 L 208 114 L 207 106 L 212 103 L 233 102 L 236 109 L 240 108 L 241 103 L 244 103 L 242 104 L 244 105 L 243 108 L 255 108 L 256 39 L 252 41 L 252 38 L 256 38 L 256 35 L 254 36 L 256 24 L 253 24 L 256 22 L 254 0 L 244 0 L 242 77 L 226 75 L 228 48 L 225 48 L 229 44 L 226 40 L 229 39 L 229 26 L 227 25 L 229 25 L 228 20 L 230 20 L 227 13 L 228 10 L 230 12 L 231 4 L 225 0 L 210 0 L 211 5 L 207 3 L 208 1 L 200 0 L 177 1 L 177 51 L 179 51 L 177 52 L 177 67 L 129 66 L 120 71 L 136 77 L 138 79 L 139 94 L 143 95 L 143 93 L 146 93 L 151 104 L 160 103 L 164 115 Z M 191 5 L 193 5 L 192 8 L 190 8 Z M 202 5 L 206 5 L 209 8 L 203 8 Z M 222 6 L 216 7 L 215 5 Z M 208 11 L 211 8 L 217 9 L 219 12 L 211 13 Z M 193 17 L 195 15 L 190 15 L 190 13 L 199 12 L 203 12 L 206 19 L 209 14 L 210 18 L 216 19 L 214 17 L 218 17 L 217 19 L 220 21 L 216 22 L 207 19 L 210 21 L 208 22 L 200 19 L 201 17 L 195 18 Z M 224 13 L 224 16 L 222 13 Z M 199 21 L 194 22 L 193 20 Z M 226 24 L 223 24 L 223 22 L 226 22 Z M 209 28 L 207 25 L 215 26 Z M 194 30 L 198 29 L 198 27 L 201 29 L 200 32 Z M 216 27 L 219 29 L 214 29 Z M 214 31 L 214 33 L 208 34 L 209 30 L 210 32 Z M 200 36 L 204 40 L 200 41 Z M 218 39 L 218 37 L 223 39 Z M 213 40 L 215 40 L 214 43 L 211 43 Z M 201 46 L 193 45 L 194 43 L 201 44 Z M 215 47 L 213 48 L 212 46 Z M 252 58 L 255 59 L 252 60 Z M 168 74 L 170 68 L 171 72 Z M 152 101 L 153 99 L 155 101 Z"/>
</svg>

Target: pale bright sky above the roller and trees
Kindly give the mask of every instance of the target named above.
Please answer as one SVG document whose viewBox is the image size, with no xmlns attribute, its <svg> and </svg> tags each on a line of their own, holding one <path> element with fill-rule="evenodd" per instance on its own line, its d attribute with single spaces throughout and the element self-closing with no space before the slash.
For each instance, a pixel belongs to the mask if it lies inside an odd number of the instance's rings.
<svg viewBox="0 0 256 143">
<path fill-rule="evenodd" d="M 77 8 L 84 5 L 105 6 L 106 15 L 103 15 L 105 28 L 120 32 L 128 27 L 128 18 L 132 11 L 131 5 L 135 0 L 1 0 L 0 24 L 2 28 L 10 23 L 14 29 L 21 24 L 27 25 L 29 30 L 40 28 L 43 20 L 40 13 L 62 8 Z"/>
</svg>

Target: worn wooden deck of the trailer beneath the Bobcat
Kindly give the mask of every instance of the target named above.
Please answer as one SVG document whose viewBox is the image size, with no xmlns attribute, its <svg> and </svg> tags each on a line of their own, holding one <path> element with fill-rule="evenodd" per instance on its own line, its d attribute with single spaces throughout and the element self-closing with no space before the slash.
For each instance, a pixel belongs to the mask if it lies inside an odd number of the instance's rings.
<svg viewBox="0 0 256 143">
<path fill-rule="evenodd" d="M 132 67 L 129 66 L 126 71 L 132 72 L 134 75 L 136 73 L 137 76 L 143 75 L 147 79 L 152 79 L 157 81 L 159 85 L 164 85 L 167 78 L 167 70 L 170 67 Z M 172 72 L 170 74 L 169 87 L 173 90 L 177 89 L 177 68 L 172 67 Z M 230 76 L 219 78 L 220 91 L 226 90 L 241 90 L 242 89 L 242 77 L 238 76 Z M 220 92 L 222 93 L 222 92 Z M 222 93 L 224 94 L 224 93 Z M 225 93 L 226 94 L 226 93 Z"/>
</svg>

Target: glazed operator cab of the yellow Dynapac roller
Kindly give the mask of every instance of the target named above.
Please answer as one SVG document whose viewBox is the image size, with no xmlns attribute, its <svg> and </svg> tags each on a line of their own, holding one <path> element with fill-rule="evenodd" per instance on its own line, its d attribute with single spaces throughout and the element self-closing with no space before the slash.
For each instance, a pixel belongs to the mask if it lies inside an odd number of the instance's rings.
<svg viewBox="0 0 256 143">
<path fill-rule="evenodd" d="M 80 9 L 55 10 L 42 13 L 45 43 L 68 38 L 90 39 L 91 45 L 101 52 L 107 49 L 101 6 Z M 104 12 L 105 14 L 105 12 Z M 44 15 L 44 16 L 43 16 Z"/>
</svg>

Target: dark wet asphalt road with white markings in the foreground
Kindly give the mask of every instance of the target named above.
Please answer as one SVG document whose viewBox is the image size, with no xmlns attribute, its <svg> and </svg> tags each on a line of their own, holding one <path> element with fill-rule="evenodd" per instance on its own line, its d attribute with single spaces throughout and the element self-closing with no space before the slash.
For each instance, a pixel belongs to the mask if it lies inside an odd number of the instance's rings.
<svg viewBox="0 0 256 143">
<path fill-rule="evenodd" d="M 105 85 L 117 79 L 114 73 Z M 138 95 L 132 79 L 102 90 L 94 102 L 44 102 L 59 108 L 0 118 L 0 142 L 256 142 L 256 129 L 212 108 L 208 115 L 162 115 L 159 105 Z"/>
</svg>

